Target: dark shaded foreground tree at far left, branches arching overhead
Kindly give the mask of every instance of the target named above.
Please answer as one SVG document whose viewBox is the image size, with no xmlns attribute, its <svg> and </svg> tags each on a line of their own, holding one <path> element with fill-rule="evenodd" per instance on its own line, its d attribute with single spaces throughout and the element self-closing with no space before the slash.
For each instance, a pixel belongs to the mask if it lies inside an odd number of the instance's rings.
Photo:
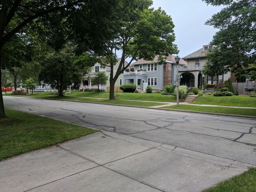
<svg viewBox="0 0 256 192">
<path fill-rule="evenodd" d="M 63 19 L 66 18 L 74 21 L 74 28 L 79 28 L 80 32 L 84 30 L 83 35 L 80 35 L 80 38 L 81 40 L 86 39 L 87 41 L 84 41 L 81 47 L 83 47 L 84 49 L 100 48 L 100 43 L 95 43 L 96 46 L 92 45 L 92 38 L 95 37 L 95 34 L 99 34 L 99 38 L 97 38 L 96 40 L 99 40 L 100 37 L 104 37 L 104 40 L 107 37 L 106 34 L 104 36 L 104 27 L 107 26 L 107 24 L 109 24 L 109 15 L 111 15 L 111 11 L 114 10 L 116 3 L 117 0 L 1 0 L 1 69 L 3 67 L 2 51 L 6 43 L 9 42 L 15 35 L 17 35 L 17 33 L 19 33 L 28 24 L 37 24 L 37 26 L 39 26 L 39 24 L 44 24 L 44 19 L 42 18 L 54 12 L 58 12 L 59 15 L 63 17 Z M 105 17 L 100 19 L 100 17 L 102 17 L 103 15 Z M 95 29 L 95 26 L 98 26 L 98 24 L 105 25 L 102 25 L 102 28 L 97 28 L 96 31 L 93 31 Z M 41 28 L 43 30 L 43 26 L 41 26 Z M 33 28 L 31 30 L 33 30 Z M 74 33 L 76 32 L 74 31 Z M 0 71 L 0 78 L 1 76 L 2 73 Z M 0 118 L 1 117 L 6 117 L 4 112 L 2 91 L 0 91 Z"/>
</svg>

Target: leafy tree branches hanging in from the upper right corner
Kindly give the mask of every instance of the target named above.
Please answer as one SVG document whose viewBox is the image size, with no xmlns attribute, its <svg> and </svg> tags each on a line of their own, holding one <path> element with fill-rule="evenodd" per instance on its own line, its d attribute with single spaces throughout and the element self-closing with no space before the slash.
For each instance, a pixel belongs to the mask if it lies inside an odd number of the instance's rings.
<svg viewBox="0 0 256 192">
<path fill-rule="evenodd" d="M 238 72 L 256 61 L 256 0 L 203 0 L 213 6 L 224 5 L 206 21 L 219 29 L 211 41 L 204 66 L 208 75 Z"/>
</svg>

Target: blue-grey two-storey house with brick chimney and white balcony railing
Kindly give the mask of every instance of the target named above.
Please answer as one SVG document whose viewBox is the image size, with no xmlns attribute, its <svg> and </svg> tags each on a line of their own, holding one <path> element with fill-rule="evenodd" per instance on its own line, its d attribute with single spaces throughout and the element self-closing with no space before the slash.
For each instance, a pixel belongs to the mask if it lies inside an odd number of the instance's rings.
<svg viewBox="0 0 256 192">
<path fill-rule="evenodd" d="M 132 64 L 134 70 L 124 72 L 124 83 L 134 83 L 137 85 L 137 89 L 143 90 L 145 89 L 143 83 L 145 83 L 144 85 L 152 87 L 153 90 L 160 91 L 169 83 L 175 85 L 177 68 L 174 58 L 174 55 L 169 55 L 162 64 L 158 64 L 158 55 L 153 61 L 139 59 Z M 180 59 L 179 65 L 187 66 L 187 62 Z"/>
</svg>

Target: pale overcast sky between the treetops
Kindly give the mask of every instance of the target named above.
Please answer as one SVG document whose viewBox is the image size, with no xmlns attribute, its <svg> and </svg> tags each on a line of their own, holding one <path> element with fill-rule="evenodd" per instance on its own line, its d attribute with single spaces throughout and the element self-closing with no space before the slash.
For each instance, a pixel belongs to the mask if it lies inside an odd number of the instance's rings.
<svg viewBox="0 0 256 192">
<path fill-rule="evenodd" d="M 210 43 L 217 30 L 204 23 L 223 8 L 207 6 L 202 0 L 153 0 L 152 7 L 161 7 L 173 18 L 176 36 L 174 43 L 178 45 L 180 57 L 185 57 Z"/>
</svg>

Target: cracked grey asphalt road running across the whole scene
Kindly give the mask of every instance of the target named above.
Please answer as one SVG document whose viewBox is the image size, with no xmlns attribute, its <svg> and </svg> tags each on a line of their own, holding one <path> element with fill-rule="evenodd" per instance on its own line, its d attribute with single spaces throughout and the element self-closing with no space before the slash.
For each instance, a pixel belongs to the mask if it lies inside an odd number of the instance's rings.
<svg viewBox="0 0 256 192">
<path fill-rule="evenodd" d="M 256 165 L 255 119 L 13 96 L 4 107 Z"/>
</svg>

